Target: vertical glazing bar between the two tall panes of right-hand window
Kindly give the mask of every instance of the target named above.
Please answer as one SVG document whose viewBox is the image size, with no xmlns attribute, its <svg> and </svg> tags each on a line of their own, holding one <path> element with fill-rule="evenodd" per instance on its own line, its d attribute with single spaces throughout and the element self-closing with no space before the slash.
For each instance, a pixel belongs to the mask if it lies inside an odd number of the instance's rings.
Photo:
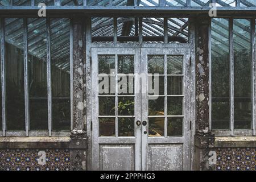
<svg viewBox="0 0 256 182">
<path fill-rule="evenodd" d="M 233 19 L 229 19 L 229 104 L 230 104 L 230 130 L 234 135 L 234 42 L 233 42 Z"/>
</svg>

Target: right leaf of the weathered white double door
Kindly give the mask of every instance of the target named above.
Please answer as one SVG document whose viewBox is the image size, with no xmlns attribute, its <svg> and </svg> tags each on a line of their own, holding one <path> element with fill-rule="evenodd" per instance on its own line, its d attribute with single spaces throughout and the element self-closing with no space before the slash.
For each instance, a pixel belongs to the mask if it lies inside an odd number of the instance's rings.
<svg viewBox="0 0 256 182">
<path fill-rule="evenodd" d="M 189 169 L 189 57 L 182 48 L 141 51 L 142 170 Z"/>
</svg>

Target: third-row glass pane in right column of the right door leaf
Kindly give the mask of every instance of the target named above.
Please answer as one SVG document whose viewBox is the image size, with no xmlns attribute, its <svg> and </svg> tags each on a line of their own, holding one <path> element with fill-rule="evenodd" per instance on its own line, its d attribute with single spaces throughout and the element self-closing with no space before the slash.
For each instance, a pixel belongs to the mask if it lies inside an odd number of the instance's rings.
<svg viewBox="0 0 256 182">
<path fill-rule="evenodd" d="M 183 97 L 167 97 L 168 115 L 183 115 Z"/>
</svg>

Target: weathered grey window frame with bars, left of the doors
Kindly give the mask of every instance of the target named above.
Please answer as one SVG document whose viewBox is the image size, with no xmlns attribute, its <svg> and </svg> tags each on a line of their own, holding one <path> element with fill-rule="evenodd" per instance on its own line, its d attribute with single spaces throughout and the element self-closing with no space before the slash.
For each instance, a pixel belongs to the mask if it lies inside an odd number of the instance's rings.
<svg viewBox="0 0 256 182">
<path fill-rule="evenodd" d="M 6 17 L 7 18 L 7 17 Z M 16 17 L 19 18 L 19 17 Z M 46 18 L 46 53 L 47 53 L 47 105 L 48 105 L 48 131 L 47 130 L 30 130 L 30 110 L 29 110 L 29 90 L 28 90 L 28 23 L 27 19 L 23 17 L 23 48 L 24 48 L 24 107 L 25 107 L 25 130 L 8 131 L 6 129 L 6 57 L 5 57 L 5 18 L 0 19 L 0 49 L 1 49 L 1 89 L 2 89 L 2 131 L 0 137 L 67 137 L 71 134 L 73 127 L 73 42 L 72 42 L 72 22 L 69 19 L 69 63 L 70 63 L 70 130 L 52 130 L 52 82 L 51 82 L 51 18 L 64 18 L 64 17 L 49 17 Z"/>
</svg>

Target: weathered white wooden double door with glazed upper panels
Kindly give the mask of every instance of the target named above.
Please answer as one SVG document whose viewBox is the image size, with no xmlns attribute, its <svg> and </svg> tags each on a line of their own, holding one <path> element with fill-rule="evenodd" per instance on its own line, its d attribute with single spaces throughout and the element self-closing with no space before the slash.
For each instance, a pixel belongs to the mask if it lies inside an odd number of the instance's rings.
<svg viewBox="0 0 256 182">
<path fill-rule="evenodd" d="M 189 170 L 188 48 L 92 48 L 92 169 Z"/>
</svg>

